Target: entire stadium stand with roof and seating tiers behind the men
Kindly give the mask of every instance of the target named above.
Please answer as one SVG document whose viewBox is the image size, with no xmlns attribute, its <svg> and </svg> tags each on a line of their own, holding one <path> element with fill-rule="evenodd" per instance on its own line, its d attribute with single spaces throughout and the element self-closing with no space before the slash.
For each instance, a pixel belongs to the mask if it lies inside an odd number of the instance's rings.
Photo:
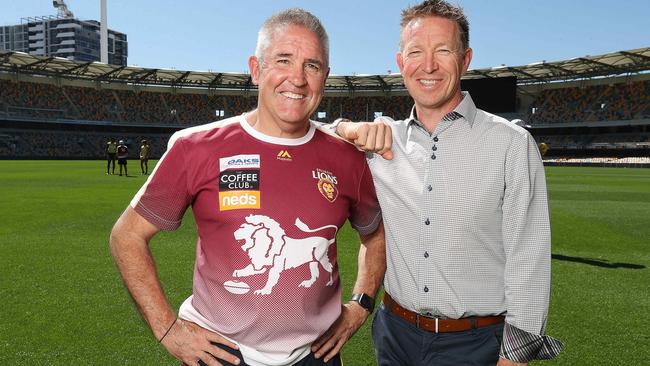
<svg viewBox="0 0 650 366">
<path fill-rule="evenodd" d="M 636 164 L 650 156 L 648 71 L 650 48 L 642 48 L 470 70 L 465 78 L 517 78 L 517 110 L 501 115 L 529 125 L 550 147 L 548 163 Z M 132 151 L 147 138 L 158 158 L 174 131 L 255 108 L 254 88 L 246 74 L 0 52 L 0 158 L 102 159 L 108 137 L 127 140 Z M 398 74 L 330 76 L 312 118 L 403 118 L 412 104 Z"/>
</svg>

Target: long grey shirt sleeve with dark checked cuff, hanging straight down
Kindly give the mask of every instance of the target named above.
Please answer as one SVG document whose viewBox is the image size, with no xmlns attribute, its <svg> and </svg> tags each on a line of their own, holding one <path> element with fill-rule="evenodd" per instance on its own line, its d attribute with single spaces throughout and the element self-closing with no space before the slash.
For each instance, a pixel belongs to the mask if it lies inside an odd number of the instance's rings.
<svg viewBox="0 0 650 366">
<path fill-rule="evenodd" d="M 544 336 L 551 283 L 551 228 L 546 178 L 530 134 L 506 155 L 503 244 L 506 324 L 498 365 L 550 359 L 562 343 Z"/>
</svg>

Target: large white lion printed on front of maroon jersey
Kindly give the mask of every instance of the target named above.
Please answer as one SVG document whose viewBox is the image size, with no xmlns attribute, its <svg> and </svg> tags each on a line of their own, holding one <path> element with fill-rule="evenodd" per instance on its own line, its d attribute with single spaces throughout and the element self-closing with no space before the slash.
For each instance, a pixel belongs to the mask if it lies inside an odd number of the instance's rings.
<svg viewBox="0 0 650 366">
<path fill-rule="evenodd" d="M 280 224 L 264 215 L 248 215 L 239 229 L 234 233 L 235 239 L 243 240 L 242 250 L 251 259 L 251 264 L 233 272 L 234 277 L 246 277 L 263 274 L 268 271 L 268 279 L 263 288 L 256 290 L 256 295 L 270 294 L 280 280 L 284 270 L 309 265 L 311 277 L 302 281 L 300 287 L 311 287 L 320 274 L 319 264 L 329 272 L 327 286 L 331 286 L 333 266 L 327 256 L 329 246 L 334 243 L 338 227 L 326 225 L 310 229 L 299 218 L 295 225 L 302 231 L 314 233 L 325 229 L 334 229 L 331 239 L 311 236 L 294 239 L 286 235 Z"/>
</svg>

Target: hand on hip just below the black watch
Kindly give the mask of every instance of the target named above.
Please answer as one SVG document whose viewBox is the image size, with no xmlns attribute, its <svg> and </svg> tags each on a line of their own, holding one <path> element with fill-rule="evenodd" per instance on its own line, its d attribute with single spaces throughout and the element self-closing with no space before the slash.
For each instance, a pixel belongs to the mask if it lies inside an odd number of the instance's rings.
<svg viewBox="0 0 650 366">
<path fill-rule="evenodd" d="M 314 356 L 320 358 L 325 355 L 323 361 L 331 360 L 366 321 L 368 315 L 368 311 L 357 303 L 344 304 L 339 318 L 312 344 Z"/>
</svg>

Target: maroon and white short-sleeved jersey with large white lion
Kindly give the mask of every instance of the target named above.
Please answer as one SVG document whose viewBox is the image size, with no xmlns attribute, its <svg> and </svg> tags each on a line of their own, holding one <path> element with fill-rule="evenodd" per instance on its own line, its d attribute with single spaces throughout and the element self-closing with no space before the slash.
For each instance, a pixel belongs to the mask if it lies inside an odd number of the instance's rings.
<svg viewBox="0 0 650 366">
<path fill-rule="evenodd" d="M 381 220 L 363 153 L 314 123 L 282 139 L 244 116 L 174 134 L 131 205 L 164 230 L 192 206 L 192 307 L 269 354 L 308 346 L 338 317 L 336 233 L 348 218 L 361 234 Z"/>
</svg>

